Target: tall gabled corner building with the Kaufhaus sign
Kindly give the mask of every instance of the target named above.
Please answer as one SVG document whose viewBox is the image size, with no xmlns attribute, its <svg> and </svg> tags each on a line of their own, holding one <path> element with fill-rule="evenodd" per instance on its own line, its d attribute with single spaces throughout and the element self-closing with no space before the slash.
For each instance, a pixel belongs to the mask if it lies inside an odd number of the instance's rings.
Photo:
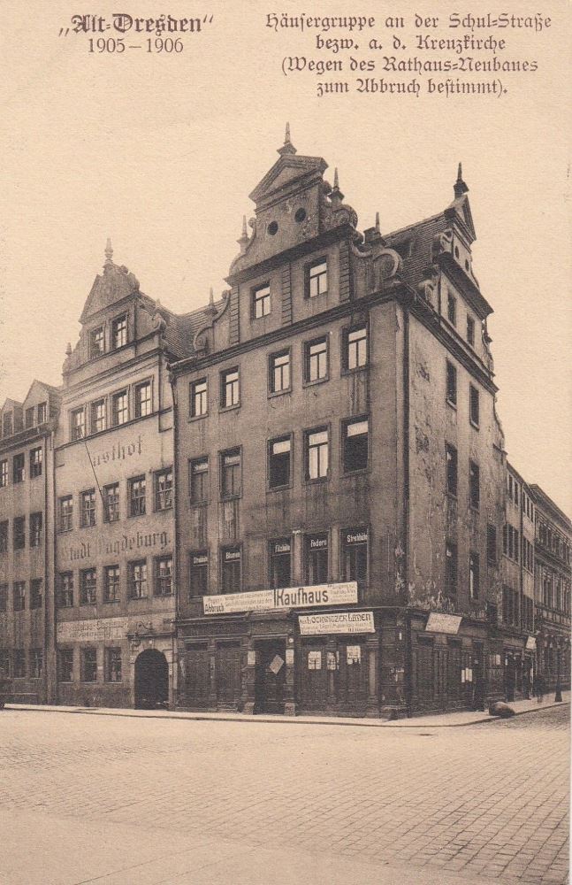
<svg viewBox="0 0 572 885">
<path fill-rule="evenodd" d="M 230 288 L 171 366 L 176 703 L 500 696 L 504 441 L 461 169 L 443 212 L 362 234 L 324 159 L 287 131 L 278 154 Z"/>
</svg>

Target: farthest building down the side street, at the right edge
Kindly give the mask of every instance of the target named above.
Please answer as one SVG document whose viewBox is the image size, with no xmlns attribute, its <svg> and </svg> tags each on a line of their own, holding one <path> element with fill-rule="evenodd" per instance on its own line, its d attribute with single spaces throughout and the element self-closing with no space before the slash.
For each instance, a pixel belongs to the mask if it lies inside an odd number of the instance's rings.
<svg viewBox="0 0 572 885">
<path fill-rule="evenodd" d="M 538 485 L 535 504 L 535 600 L 538 672 L 545 685 L 570 687 L 570 546 L 572 523 Z"/>
</svg>

